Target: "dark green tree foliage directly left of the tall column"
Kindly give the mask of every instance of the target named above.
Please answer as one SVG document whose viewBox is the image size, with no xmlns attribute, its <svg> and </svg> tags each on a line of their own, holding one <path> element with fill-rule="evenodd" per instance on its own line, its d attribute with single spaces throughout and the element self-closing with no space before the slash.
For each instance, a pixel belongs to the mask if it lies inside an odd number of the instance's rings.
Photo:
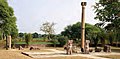
<svg viewBox="0 0 120 59">
<path fill-rule="evenodd" d="M 68 38 L 79 38 L 81 36 L 81 28 L 80 28 L 81 24 L 80 22 L 73 24 L 73 25 L 69 25 L 65 28 L 64 31 L 61 32 L 62 35 L 67 36 Z"/>
</svg>

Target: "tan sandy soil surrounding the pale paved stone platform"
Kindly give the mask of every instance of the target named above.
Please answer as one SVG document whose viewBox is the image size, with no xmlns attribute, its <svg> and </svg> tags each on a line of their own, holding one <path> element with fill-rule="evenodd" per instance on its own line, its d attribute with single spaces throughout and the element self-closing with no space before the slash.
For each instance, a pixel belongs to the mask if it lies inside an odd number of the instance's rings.
<svg viewBox="0 0 120 59">
<path fill-rule="evenodd" d="M 58 50 L 58 49 L 57 49 Z M 0 50 L 0 59 L 37 59 L 37 58 L 31 58 L 29 56 L 21 54 L 21 52 L 29 52 L 29 50 Z M 33 52 L 33 51 L 30 51 Z M 34 51 L 36 52 L 36 51 Z M 38 52 L 51 52 L 48 50 L 40 50 Z M 100 53 L 99 53 L 100 54 Z M 94 55 L 94 53 L 93 53 Z M 87 55 L 86 55 L 87 56 Z M 120 59 L 120 54 L 114 54 L 114 55 L 94 55 L 99 57 L 105 57 L 105 58 L 112 58 L 112 59 Z M 38 58 L 38 59 L 92 59 L 84 56 L 58 56 L 58 57 L 45 57 L 45 58 Z"/>
</svg>

